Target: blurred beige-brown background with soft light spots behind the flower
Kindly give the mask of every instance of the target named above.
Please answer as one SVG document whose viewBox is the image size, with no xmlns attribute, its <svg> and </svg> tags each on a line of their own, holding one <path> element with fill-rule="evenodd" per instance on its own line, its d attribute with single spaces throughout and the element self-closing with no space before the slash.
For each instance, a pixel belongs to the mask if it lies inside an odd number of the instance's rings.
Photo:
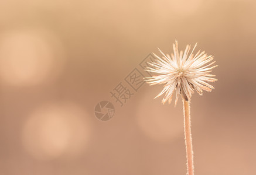
<svg viewBox="0 0 256 175">
<path fill-rule="evenodd" d="M 110 95 L 175 39 L 220 65 L 192 97 L 196 174 L 256 174 L 255 17 L 247 0 L 0 1 L 0 174 L 186 174 L 182 101 L 146 84 L 122 107 Z"/>
</svg>

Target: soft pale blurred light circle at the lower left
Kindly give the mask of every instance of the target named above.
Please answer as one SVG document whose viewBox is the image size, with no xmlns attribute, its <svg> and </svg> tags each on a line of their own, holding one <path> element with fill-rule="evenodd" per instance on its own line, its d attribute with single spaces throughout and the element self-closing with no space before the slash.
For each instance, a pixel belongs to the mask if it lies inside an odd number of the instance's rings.
<svg viewBox="0 0 256 175">
<path fill-rule="evenodd" d="M 73 103 L 52 103 L 36 108 L 22 129 L 27 152 L 39 160 L 61 155 L 78 156 L 90 138 L 88 115 Z"/>
</svg>

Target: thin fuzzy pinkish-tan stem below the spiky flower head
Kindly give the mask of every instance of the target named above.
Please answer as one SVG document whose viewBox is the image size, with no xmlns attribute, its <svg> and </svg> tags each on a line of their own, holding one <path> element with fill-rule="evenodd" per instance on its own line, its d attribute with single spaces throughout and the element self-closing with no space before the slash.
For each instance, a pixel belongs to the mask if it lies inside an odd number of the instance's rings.
<svg viewBox="0 0 256 175">
<path fill-rule="evenodd" d="M 187 156 L 187 174 L 194 175 L 191 121 L 190 121 L 190 105 L 189 104 L 190 104 L 190 101 L 183 100 L 184 135 L 185 135 L 186 156 Z"/>
</svg>

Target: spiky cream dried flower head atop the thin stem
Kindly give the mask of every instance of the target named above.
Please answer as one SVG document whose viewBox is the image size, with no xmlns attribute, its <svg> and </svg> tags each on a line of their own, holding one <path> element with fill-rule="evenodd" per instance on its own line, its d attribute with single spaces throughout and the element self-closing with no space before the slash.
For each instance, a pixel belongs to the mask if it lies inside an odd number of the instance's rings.
<svg viewBox="0 0 256 175">
<path fill-rule="evenodd" d="M 196 44 L 197 45 L 197 44 Z M 196 45 L 194 48 L 196 48 Z M 159 97 L 165 93 L 162 103 L 172 101 L 173 93 L 176 91 L 175 106 L 179 99 L 179 95 L 186 101 L 189 101 L 192 93 L 196 90 L 199 95 L 203 94 L 203 90 L 208 92 L 214 89 L 207 82 L 215 82 L 217 79 L 212 78 L 215 75 L 209 74 L 211 69 L 218 65 L 213 65 L 213 57 L 201 52 L 200 50 L 194 55 L 193 51 L 189 54 L 190 45 L 186 46 L 183 51 L 178 51 L 178 41 L 173 44 L 174 53 L 171 55 L 162 54 L 162 58 L 154 54 L 156 57 L 155 62 L 148 62 L 151 67 L 147 67 L 146 71 L 154 72 L 160 75 L 153 75 L 152 77 L 145 78 L 149 85 L 165 84 Z M 159 49 L 159 48 L 158 48 Z M 212 62 L 213 61 L 213 62 Z M 155 97 L 155 98 L 156 98 Z"/>
</svg>

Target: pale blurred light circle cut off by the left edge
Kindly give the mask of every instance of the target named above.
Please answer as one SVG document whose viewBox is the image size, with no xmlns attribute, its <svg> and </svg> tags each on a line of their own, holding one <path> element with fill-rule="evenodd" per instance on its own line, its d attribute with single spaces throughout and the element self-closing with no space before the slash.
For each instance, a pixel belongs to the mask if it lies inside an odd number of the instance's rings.
<svg viewBox="0 0 256 175">
<path fill-rule="evenodd" d="M 62 42 L 44 29 L 16 29 L 0 35 L 0 81 L 37 85 L 60 73 L 65 62 Z"/>
</svg>

